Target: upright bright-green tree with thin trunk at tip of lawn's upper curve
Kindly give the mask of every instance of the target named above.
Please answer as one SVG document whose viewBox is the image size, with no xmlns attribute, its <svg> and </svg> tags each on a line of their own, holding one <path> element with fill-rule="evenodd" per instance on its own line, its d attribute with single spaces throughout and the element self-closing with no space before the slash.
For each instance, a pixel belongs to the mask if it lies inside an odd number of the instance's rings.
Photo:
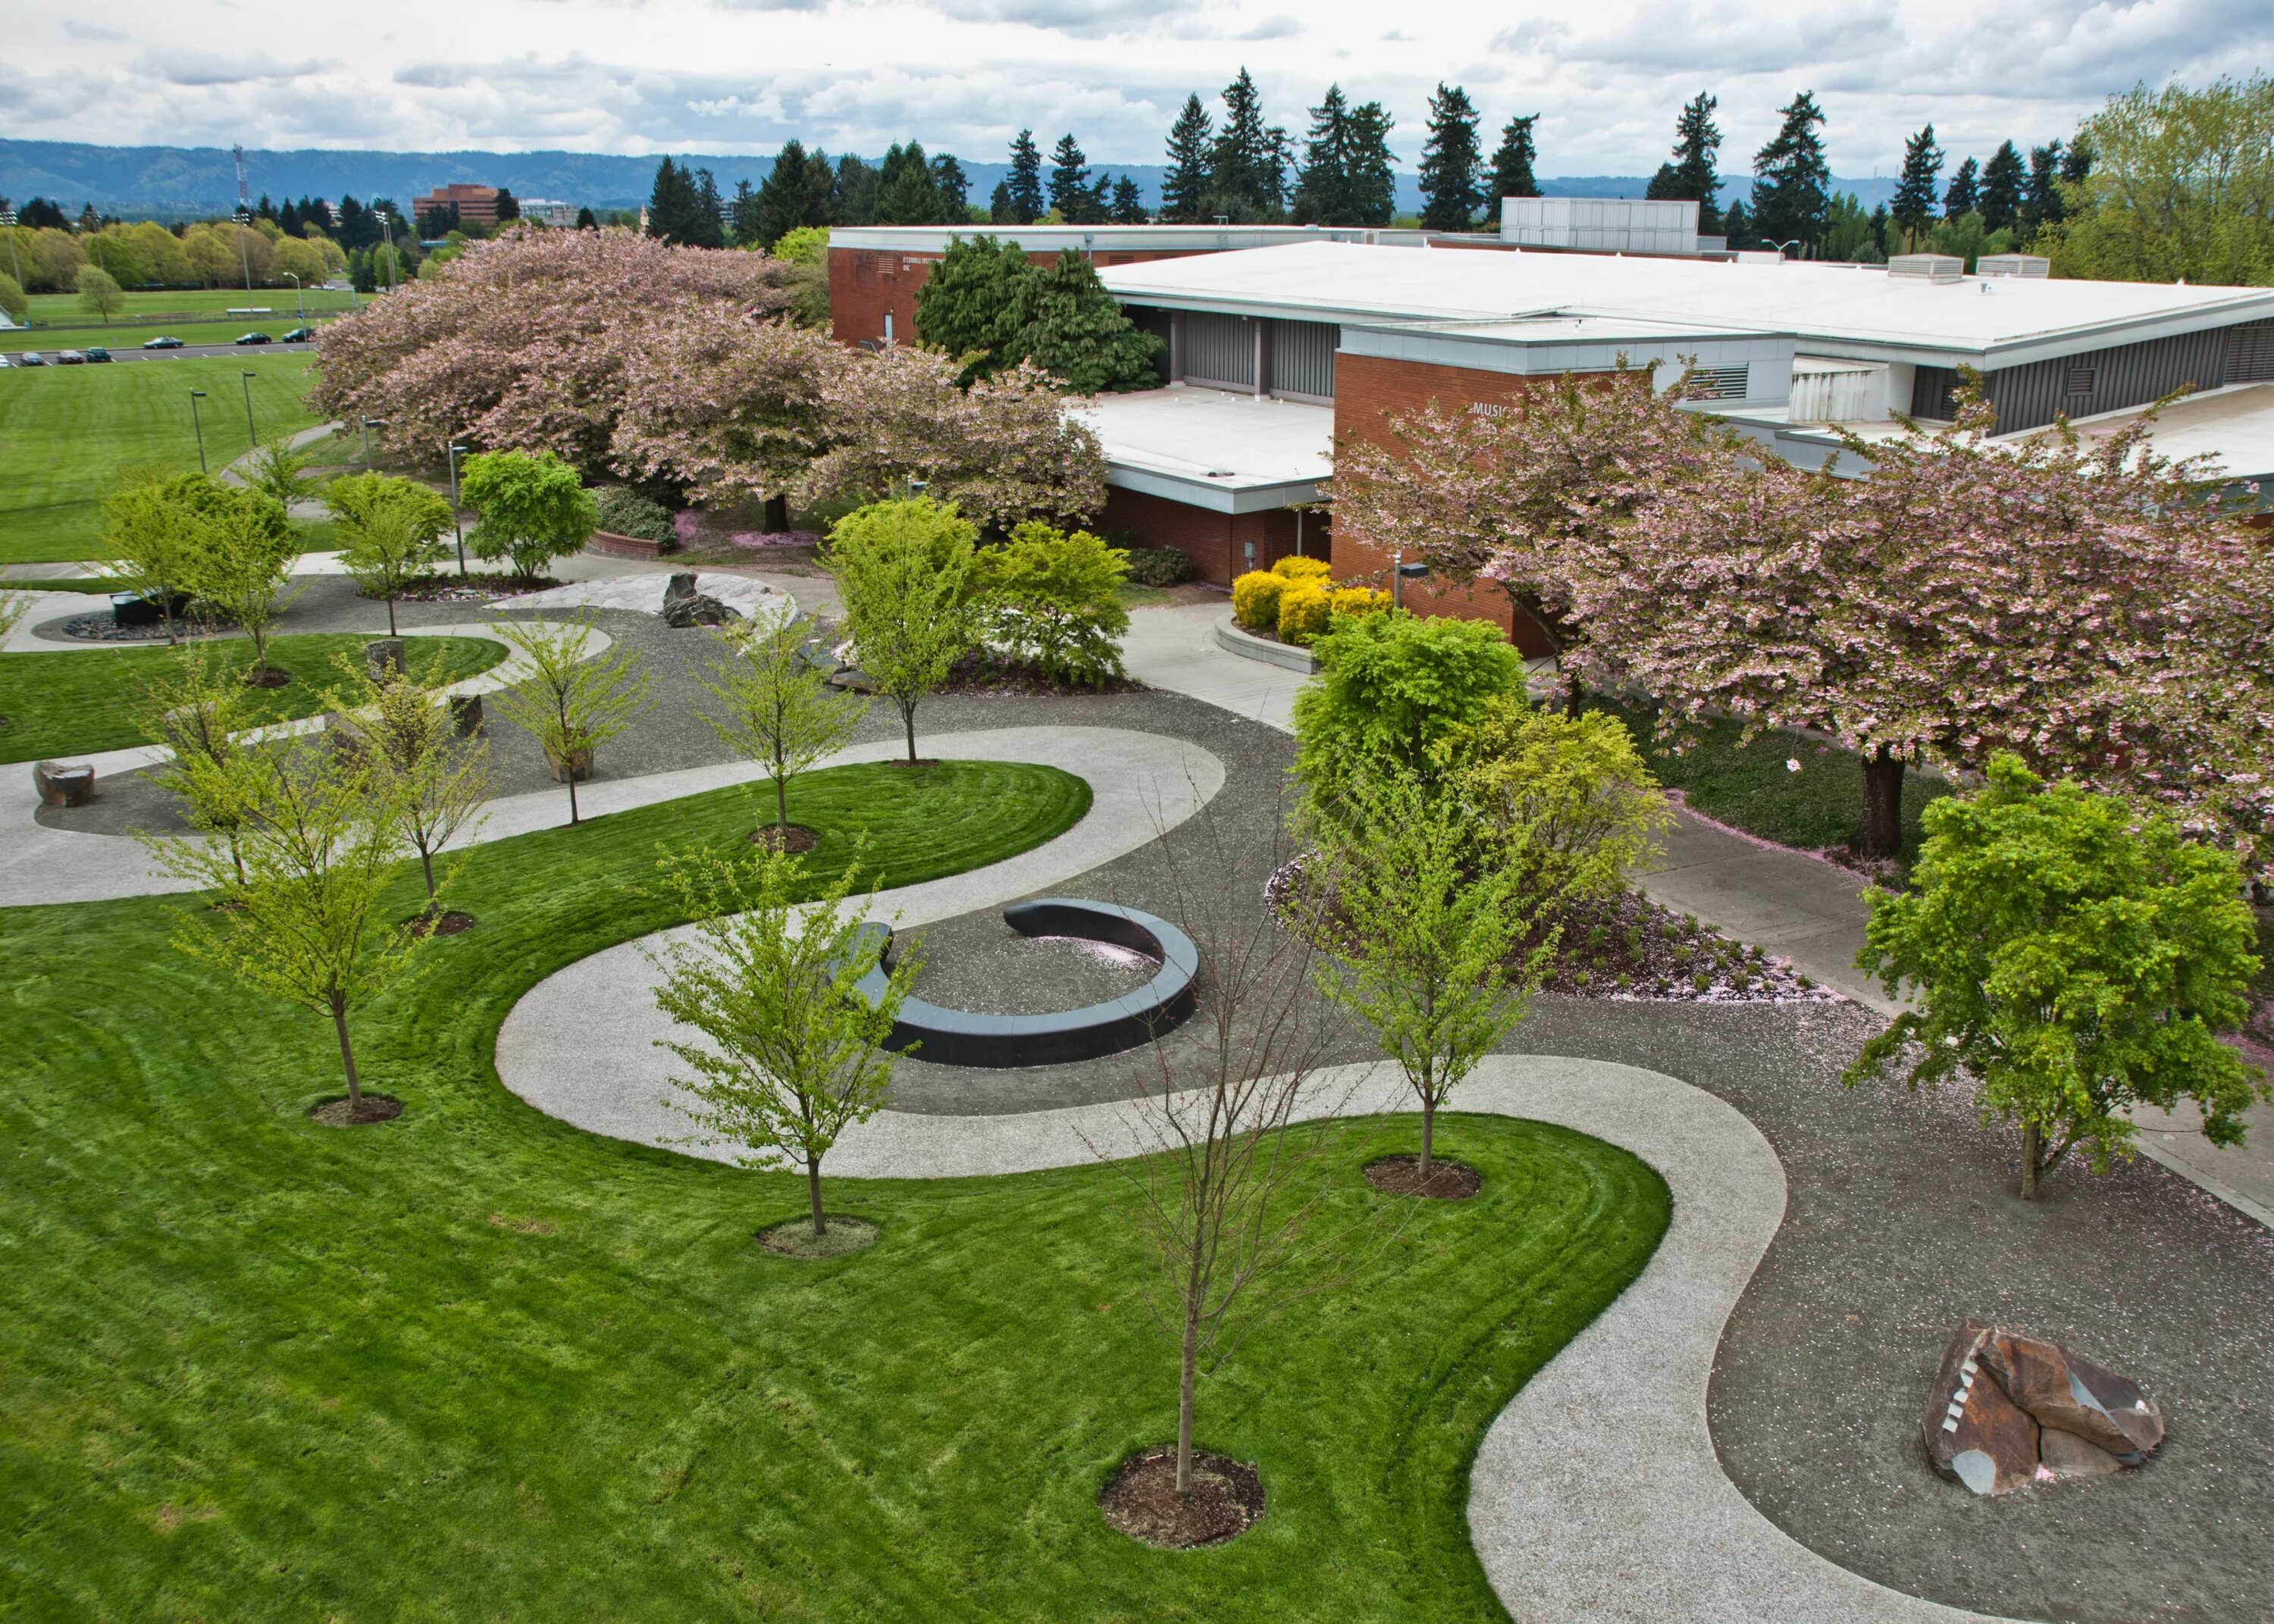
<svg viewBox="0 0 2274 1624">
<path fill-rule="evenodd" d="M 869 503 L 830 528 L 830 571 L 853 657 L 901 710 L 916 764 L 916 705 L 978 644 L 978 530 L 930 496 Z"/>
</svg>

